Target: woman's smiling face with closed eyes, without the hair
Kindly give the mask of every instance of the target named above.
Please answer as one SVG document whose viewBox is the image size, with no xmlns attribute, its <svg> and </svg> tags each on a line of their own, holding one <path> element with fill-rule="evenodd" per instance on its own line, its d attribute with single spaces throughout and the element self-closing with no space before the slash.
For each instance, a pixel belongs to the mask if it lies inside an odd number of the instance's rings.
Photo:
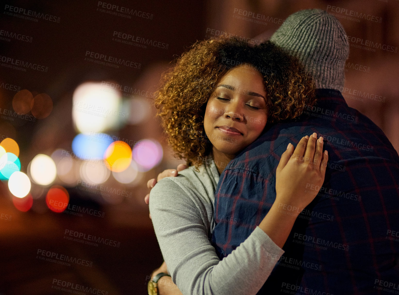
<svg viewBox="0 0 399 295">
<path fill-rule="evenodd" d="M 208 99 L 204 129 L 213 150 L 235 155 L 261 135 L 267 121 L 265 84 L 251 66 L 230 69 Z"/>
</svg>

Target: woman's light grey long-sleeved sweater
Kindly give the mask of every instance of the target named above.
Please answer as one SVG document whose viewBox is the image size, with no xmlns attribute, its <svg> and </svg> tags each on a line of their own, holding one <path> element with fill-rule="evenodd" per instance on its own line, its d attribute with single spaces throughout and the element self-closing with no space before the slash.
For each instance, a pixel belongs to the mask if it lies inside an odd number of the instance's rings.
<svg viewBox="0 0 399 295">
<path fill-rule="evenodd" d="M 163 178 L 150 192 L 152 224 L 168 271 L 184 295 L 256 294 L 284 251 L 257 226 L 219 259 L 210 242 L 219 172 L 211 158 L 205 162 L 199 172 L 191 166 Z"/>
</svg>

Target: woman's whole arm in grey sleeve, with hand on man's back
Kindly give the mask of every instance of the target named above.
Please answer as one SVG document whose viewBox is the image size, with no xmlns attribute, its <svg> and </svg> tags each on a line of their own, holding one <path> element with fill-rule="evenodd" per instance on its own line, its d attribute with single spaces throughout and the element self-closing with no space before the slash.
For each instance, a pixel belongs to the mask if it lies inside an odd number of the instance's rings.
<svg viewBox="0 0 399 295">
<path fill-rule="evenodd" d="M 274 207 L 259 227 L 222 261 L 208 240 L 199 208 L 189 197 L 189 188 L 181 188 L 172 180 L 165 179 L 162 180 L 164 185 L 160 182 L 151 190 L 150 212 L 156 236 L 172 279 L 183 294 L 231 295 L 256 294 L 259 291 L 284 253 L 280 247 L 296 219 L 292 212 L 282 213 L 279 204 L 305 207 L 317 192 L 304 195 L 304 190 L 299 192 L 298 189 L 306 186 L 307 181 L 321 186 L 324 179 L 320 163 L 325 163 L 327 157 L 320 157 L 322 149 L 319 145 L 315 153 L 315 140 L 309 141 L 309 148 L 306 147 L 307 141 L 308 137 L 303 138 L 292 156 L 293 147 L 288 147 L 282 155 L 277 169 Z M 315 172 L 317 167 L 313 162 L 318 162 L 320 172 Z M 298 200 L 302 198 L 304 200 Z"/>
</svg>

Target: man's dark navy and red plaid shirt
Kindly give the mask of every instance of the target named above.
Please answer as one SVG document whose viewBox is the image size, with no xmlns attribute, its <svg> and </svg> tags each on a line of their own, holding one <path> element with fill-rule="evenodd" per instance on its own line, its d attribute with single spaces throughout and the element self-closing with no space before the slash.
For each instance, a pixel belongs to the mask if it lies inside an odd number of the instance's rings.
<svg viewBox="0 0 399 295">
<path fill-rule="evenodd" d="M 275 172 L 288 143 L 316 132 L 329 155 L 324 184 L 258 294 L 398 294 L 398 154 L 339 91 L 316 95 L 316 106 L 305 107 L 299 120 L 267 127 L 225 168 L 215 192 L 213 246 L 223 259 L 244 242 L 275 201 Z"/>
</svg>

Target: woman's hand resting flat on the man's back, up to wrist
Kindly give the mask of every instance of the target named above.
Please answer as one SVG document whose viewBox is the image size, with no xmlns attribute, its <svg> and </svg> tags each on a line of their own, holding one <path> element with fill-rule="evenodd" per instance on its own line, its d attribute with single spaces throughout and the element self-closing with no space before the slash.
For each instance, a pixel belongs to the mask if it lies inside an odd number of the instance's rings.
<svg viewBox="0 0 399 295">
<path fill-rule="evenodd" d="M 276 171 L 276 201 L 280 209 L 299 213 L 318 194 L 326 174 L 328 153 L 317 134 L 302 137 L 297 147 L 288 144 Z"/>
</svg>

